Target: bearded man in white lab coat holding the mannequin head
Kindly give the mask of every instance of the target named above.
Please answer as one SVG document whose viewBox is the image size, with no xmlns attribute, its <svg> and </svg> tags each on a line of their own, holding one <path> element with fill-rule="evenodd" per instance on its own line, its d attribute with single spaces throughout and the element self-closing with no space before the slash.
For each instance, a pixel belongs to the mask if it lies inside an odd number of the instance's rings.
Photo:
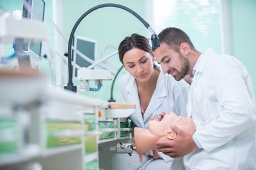
<svg viewBox="0 0 256 170">
<path fill-rule="evenodd" d="M 164 73 L 181 80 L 190 74 L 188 116 L 196 124 L 193 135 L 172 126 L 173 141 L 158 141 L 160 152 L 184 157 L 183 169 L 256 169 L 256 115 L 250 75 L 239 60 L 198 52 L 188 35 L 168 27 L 154 50 Z M 171 169 L 175 169 L 175 159 Z"/>
</svg>

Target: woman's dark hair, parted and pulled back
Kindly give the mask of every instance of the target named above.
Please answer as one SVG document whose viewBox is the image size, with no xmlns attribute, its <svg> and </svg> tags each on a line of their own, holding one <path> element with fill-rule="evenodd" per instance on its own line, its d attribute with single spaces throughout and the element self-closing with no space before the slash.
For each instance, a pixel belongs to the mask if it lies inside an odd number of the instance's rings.
<svg viewBox="0 0 256 170">
<path fill-rule="evenodd" d="M 148 39 L 144 36 L 134 33 L 131 36 L 125 37 L 125 39 L 120 43 L 118 47 L 119 59 L 122 64 L 124 64 L 124 54 L 134 47 L 140 48 L 141 50 L 152 54 Z"/>
</svg>

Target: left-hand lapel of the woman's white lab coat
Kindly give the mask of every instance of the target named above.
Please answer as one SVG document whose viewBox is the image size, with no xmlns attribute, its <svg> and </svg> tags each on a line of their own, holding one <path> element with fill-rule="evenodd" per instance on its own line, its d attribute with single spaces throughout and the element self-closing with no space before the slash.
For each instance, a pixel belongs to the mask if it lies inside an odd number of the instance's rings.
<svg viewBox="0 0 256 170">
<path fill-rule="evenodd" d="M 127 91 L 127 97 L 129 98 L 129 101 L 135 101 L 134 104 L 136 104 L 136 112 L 133 114 L 133 117 L 136 117 L 136 121 L 134 124 L 140 124 L 141 127 L 145 128 L 142 116 L 141 116 L 141 109 L 140 109 L 140 100 L 138 96 L 138 89 L 136 85 L 136 81 L 134 78 L 132 78 L 131 81 L 128 82 L 127 86 L 125 87 L 125 90 Z"/>
</svg>

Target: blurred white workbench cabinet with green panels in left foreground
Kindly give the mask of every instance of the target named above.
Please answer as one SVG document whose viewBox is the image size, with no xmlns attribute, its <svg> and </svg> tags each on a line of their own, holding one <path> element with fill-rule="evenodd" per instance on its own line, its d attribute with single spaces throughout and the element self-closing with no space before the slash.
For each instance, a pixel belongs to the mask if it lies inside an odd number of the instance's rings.
<svg viewBox="0 0 256 170">
<path fill-rule="evenodd" d="M 0 169 L 98 169 L 98 144 L 129 138 L 106 110 L 106 101 L 54 88 L 26 104 L 0 104 Z"/>
</svg>

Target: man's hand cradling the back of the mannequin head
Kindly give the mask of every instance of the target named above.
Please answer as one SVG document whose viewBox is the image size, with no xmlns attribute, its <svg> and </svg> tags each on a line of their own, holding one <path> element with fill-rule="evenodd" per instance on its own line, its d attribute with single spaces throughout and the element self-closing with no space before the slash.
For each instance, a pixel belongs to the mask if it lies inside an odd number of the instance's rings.
<svg viewBox="0 0 256 170">
<path fill-rule="evenodd" d="M 172 158 L 177 158 L 183 157 L 198 148 L 192 138 L 192 135 L 175 125 L 172 125 L 171 128 L 177 133 L 177 137 L 170 141 L 157 141 L 155 143 L 158 148 L 157 151 L 163 152 L 165 155 Z"/>
</svg>

